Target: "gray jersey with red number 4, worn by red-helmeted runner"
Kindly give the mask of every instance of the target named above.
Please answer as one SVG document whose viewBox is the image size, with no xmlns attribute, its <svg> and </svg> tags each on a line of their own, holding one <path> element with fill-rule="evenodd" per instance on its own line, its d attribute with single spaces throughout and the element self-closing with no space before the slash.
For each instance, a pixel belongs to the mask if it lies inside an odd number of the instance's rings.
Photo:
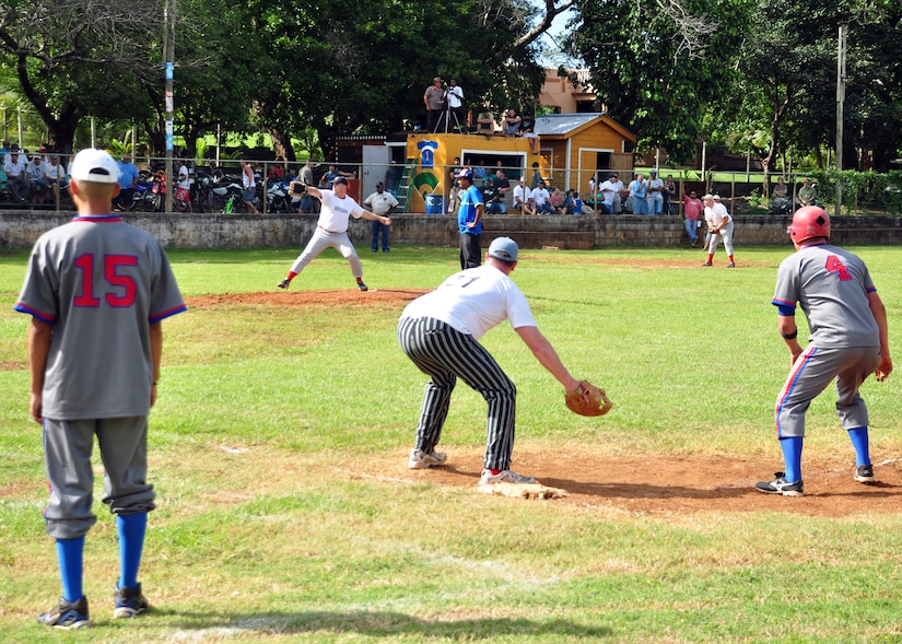
<svg viewBox="0 0 902 644">
<path fill-rule="evenodd" d="M 803 247 L 783 260 L 773 304 L 808 318 L 810 342 L 818 347 L 879 347 L 877 321 L 867 294 L 876 291 L 856 255 L 829 244 Z"/>
</svg>

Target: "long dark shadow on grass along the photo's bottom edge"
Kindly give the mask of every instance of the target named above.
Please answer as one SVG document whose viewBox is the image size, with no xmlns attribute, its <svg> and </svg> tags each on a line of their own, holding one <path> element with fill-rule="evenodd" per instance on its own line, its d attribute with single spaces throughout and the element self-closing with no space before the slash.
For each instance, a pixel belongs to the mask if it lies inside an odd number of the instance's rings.
<svg viewBox="0 0 902 644">
<path fill-rule="evenodd" d="M 385 611 L 313 611 L 313 612 L 266 612 L 245 616 L 210 616 L 179 613 L 174 610 L 157 609 L 153 614 L 166 618 L 184 618 L 178 627 L 190 631 L 192 636 L 209 631 L 211 634 L 226 634 L 230 631 L 260 633 L 360 633 L 372 637 L 396 637 L 420 635 L 429 639 L 447 639 L 455 642 L 466 640 L 492 640 L 503 635 L 541 636 L 565 635 L 567 637 L 605 637 L 613 635 L 608 627 L 581 624 L 562 619 L 531 620 L 525 618 L 487 618 L 465 620 L 426 620 Z"/>
</svg>

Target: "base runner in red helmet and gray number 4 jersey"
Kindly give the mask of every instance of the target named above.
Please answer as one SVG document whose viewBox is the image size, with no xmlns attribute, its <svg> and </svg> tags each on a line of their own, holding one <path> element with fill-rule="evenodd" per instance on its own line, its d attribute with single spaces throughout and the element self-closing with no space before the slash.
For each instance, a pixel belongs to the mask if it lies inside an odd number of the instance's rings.
<svg viewBox="0 0 902 644">
<path fill-rule="evenodd" d="M 801 496 L 801 447 L 808 406 L 836 379 L 836 413 L 855 448 L 855 480 L 874 481 L 868 453 L 868 411 L 858 394 L 875 374 L 882 382 L 892 372 L 887 309 L 865 264 L 852 253 L 828 244 L 830 218 L 817 206 L 793 215 L 789 236 L 796 253 L 780 265 L 773 304 L 777 325 L 792 356 L 792 368 L 776 400 L 776 434 L 785 471 L 758 483 L 768 494 Z M 798 342 L 796 306 L 808 318 L 811 336 L 805 350 Z"/>
</svg>

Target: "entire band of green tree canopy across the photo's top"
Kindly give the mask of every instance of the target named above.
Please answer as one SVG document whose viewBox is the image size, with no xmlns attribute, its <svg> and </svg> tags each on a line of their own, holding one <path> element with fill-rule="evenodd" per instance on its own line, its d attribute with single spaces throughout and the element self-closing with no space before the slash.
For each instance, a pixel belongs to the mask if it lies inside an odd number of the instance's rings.
<svg viewBox="0 0 902 644">
<path fill-rule="evenodd" d="M 678 162 L 699 141 L 766 167 L 834 141 L 836 36 L 846 25 L 844 167 L 886 169 L 902 143 L 902 7 L 894 0 L 10 0 L 0 68 L 72 148 L 87 117 L 164 142 L 163 4 L 175 2 L 175 132 L 216 126 L 292 139 L 411 129 L 434 75 L 467 104 L 535 109 L 538 36 L 572 8 L 565 45 L 608 114 Z M 314 134 L 315 133 L 315 134 Z"/>
</svg>

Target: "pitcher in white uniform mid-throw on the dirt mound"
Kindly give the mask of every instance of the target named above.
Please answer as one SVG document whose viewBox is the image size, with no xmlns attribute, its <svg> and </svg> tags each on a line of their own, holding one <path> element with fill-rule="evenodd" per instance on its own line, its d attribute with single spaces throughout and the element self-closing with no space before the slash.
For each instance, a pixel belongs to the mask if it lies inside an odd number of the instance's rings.
<svg viewBox="0 0 902 644">
<path fill-rule="evenodd" d="M 297 273 L 304 270 L 304 267 L 326 248 L 332 247 L 350 262 L 351 273 L 358 281 L 358 288 L 361 291 L 366 291 L 366 284 L 363 283 L 363 267 L 360 265 L 360 257 L 358 257 L 358 251 L 354 249 L 354 245 L 351 244 L 350 237 L 348 237 L 348 224 L 351 216 L 378 221 L 387 226 L 391 225 L 391 220 L 364 210 L 353 198 L 349 197 L 348 179 L 344 177 L 337 177 L 332 182 L 331 190 L 320 190 L 307 186 L 307 195 L 316 197 L 323 203 L 323 208 L 319 210 L 319 220 L 316 222 L 316 232 L 307 242 L 304 251 L 294 260 L 288 277 L 279 282 L 278 286 L 288 289 L 291 281 L 297 277 Z"/>
</svg>

